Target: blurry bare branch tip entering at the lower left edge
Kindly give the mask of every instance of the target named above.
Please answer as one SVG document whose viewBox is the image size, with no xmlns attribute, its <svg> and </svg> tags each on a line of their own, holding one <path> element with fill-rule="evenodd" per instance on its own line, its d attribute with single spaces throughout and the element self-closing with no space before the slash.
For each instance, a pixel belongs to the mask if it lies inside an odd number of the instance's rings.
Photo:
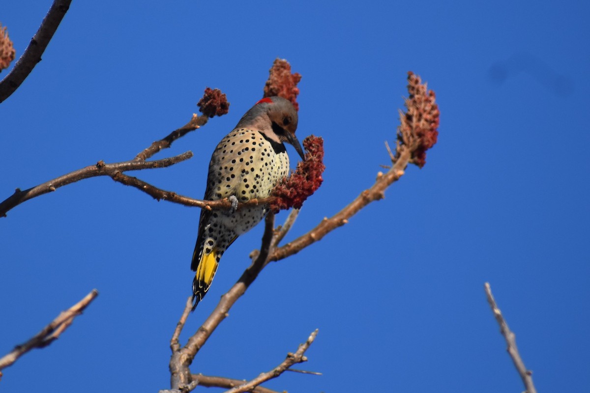
<svg viewBox="0 0 590 393">
<path fill-rule="evenodd" d="M 68 310 L 62 311 L 51 323 L 43 328 L 37 335 L 31 338 L 24 344 L 17 345 L 8 355 L 0 359 L 0 370 L 12 365 L 19 357 L 31 351 L 33 348 L 44 348 L 50 345 L 55 339 L 57 339 L 61 333 L 67 329 L 74 321 L 76 316 L 80 315 L 84 309 L 90 305 L 92 300 L 99 295 L 96 289 L 84 296 L 75 305 L 71 306 Z M 0 372 L 0 377 L 2 373 Z"/>
</svg>

